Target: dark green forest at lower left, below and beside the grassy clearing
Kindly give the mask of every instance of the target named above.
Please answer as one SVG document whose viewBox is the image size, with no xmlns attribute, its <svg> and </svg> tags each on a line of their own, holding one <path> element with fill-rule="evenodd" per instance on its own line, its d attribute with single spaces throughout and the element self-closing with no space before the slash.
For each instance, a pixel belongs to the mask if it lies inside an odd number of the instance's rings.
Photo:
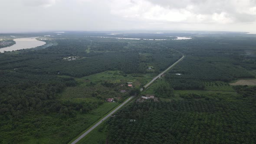
<svg viewBox="0 0 256 144">
<path fill-rule="evenodd" d="M 52 139 L 66 136 L 62 142 L 67 142 L 78 113 L 88 114 L 105 100 L 60 100 L 60 92 L 77 84 L 73 78 L 7 71 L 0 75 L 0 143 L 30 143 L 49 134 Z M 87 127 L 87 120 L 82 124 Z"/>
</svg>

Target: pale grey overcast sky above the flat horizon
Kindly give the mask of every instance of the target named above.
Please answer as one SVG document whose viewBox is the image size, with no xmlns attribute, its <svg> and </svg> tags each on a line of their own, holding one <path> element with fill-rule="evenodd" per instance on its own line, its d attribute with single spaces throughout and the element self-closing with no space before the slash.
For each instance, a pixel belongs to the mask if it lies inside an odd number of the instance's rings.
<svg viewBox="0 0 256 144">
<path fill-rule="evenodd" d="M 49 30 L 256 32 L 256 0 L 0 0 L 0 33 Z"/>
</svg>

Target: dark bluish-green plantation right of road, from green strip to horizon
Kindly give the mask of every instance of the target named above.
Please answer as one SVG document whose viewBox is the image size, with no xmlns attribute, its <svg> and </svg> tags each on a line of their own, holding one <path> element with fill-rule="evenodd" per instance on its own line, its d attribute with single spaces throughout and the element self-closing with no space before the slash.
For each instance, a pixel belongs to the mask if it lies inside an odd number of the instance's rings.
<svg viewBox="0 0 256 144">
<path fill-rule="evenodd" d="M 209 82 L 255 78 L 249 72 L 255 69 L 254 40 L 247 36 L 204 36 L 172 45 L 164 41 L 161 45 L 186 55 L 165 79 L 175 90 L 204 90 Z"/>
</svg>

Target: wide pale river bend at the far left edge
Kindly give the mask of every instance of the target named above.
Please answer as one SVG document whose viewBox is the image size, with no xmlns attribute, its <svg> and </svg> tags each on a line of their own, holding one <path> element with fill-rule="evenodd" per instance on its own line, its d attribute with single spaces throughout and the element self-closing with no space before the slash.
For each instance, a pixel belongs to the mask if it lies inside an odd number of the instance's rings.
<svg viewBox="0 0 256 144">
<path fill-rule="evenodd" d="M 4 51 L 13 51 L 13 50 L 19 50 L 19 49 L 31 49 L 35 48 L 37 46 L 43 46 L 46 44 L 46 42 L 39 41 L 36 39 L 37 37 L 28 37 L 28 38 L 19 38 L 19 39 L 13 39 L 16 44 L 13 46 L 8 46 L 5 48 L 0 49 L 0 52 Z"/>
</svg>

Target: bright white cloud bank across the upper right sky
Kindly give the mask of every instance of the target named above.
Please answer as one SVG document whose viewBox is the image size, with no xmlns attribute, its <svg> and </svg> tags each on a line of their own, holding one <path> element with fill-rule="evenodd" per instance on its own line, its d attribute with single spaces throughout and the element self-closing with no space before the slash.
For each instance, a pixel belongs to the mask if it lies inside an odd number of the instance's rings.
<svg viewBox="0 0 256 144">
<path fill-rule="evenodd" d="M 256 0 L 112 0 L 111 13 L 137 20 L 236 23 L 256 20 Z"/>
</svg>

